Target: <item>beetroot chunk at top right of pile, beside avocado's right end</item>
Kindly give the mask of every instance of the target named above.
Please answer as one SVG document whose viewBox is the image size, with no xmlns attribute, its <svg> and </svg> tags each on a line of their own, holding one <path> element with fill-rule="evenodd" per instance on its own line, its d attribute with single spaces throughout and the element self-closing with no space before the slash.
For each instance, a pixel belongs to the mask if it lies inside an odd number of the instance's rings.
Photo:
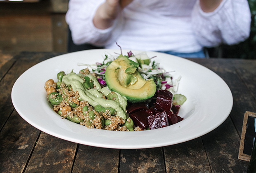
<svg viewBox="0 0 256 173">
<path fill-rule="evenodd" d="M 168 90 L 159 90 L 156 97 L 155 109 L 159 111 L 171 111 L 173 105 L 173 94 Z"/>
</svg>

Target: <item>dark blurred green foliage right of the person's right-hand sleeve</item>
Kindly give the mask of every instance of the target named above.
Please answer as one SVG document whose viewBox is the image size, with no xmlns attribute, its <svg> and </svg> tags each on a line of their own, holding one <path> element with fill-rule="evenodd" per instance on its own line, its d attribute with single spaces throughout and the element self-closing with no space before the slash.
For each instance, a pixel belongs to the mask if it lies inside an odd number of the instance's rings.
<svg viewBox="0 0 256 173">
<path fill-rule="evenodd" d="M 221 56 L 223 58 L 256 59 L 256 0 L 248 0 L 248 2 L 251 10 L 250 36 L 239 44 L 221 45 Z"/>
</svg>

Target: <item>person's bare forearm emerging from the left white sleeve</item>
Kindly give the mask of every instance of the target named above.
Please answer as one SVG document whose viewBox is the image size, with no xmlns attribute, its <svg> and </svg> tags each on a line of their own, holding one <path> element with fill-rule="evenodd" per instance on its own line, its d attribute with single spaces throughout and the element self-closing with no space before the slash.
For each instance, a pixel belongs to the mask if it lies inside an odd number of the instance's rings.
<svg viewBox="0 0 256 173">
<path fill-rule="evenodd" d="M 120 12 L 129 5 L 133 0 L 106 0 L 97 9 L 93 18 L 93 23 L 96 28 L 109 28 Z"/>
</svg>

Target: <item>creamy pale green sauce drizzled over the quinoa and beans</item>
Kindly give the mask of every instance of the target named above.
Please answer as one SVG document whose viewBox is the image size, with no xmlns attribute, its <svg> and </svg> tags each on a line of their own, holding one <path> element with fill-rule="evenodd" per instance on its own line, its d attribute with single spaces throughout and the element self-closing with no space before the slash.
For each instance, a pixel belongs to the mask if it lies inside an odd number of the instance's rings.
<svg viewBox="0 0 256 173">
<path fill-rule="evenodd" d="M 67 85 L 71 85 L 73 91 L 78 91 L 80 97 L 83 98 L 83 100 L 87 101 L 93 107 L 96 105 L 101 105 L 104 108 L 113 108 L 114 110 L 116 110 L 116 116 L 119 116 L 125 120 L 127 118 L 126 98 L 123 98 L 123 96 L 116 93 L 119 97 L 120 104 L 112 100 L 105 100 L 104 98 L 102 98 L 102 93 L 106 96 L 106 94 L 109 93 L 107 91 L 107 88 L 104 87 L 106 89 L 102 89 L 100 83 L 92 75 L 88 75 L 88 77 L 92 79 L 93 84 L 96 86 L 96 89 L 86 89 L 83 85 L 83 79 L 81 79 L 81 77 L 74 72 L 64 75 L 62 81 Z M 100 93 L 98 90 L 103 92 Z"/>
</svg>

